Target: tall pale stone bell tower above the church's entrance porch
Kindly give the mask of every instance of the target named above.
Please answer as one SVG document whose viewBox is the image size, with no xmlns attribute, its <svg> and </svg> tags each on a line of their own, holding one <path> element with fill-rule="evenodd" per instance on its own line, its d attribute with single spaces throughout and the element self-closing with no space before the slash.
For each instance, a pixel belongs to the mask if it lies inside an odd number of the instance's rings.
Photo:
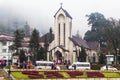
<svg viewBox="0 0 120 80">
<path fill-rule="evenodd" d="M 72 30 L 72 17 L 62 5 L 54 15 L 55 46 L 69 49 L 69 38 Z"/>
</svg>

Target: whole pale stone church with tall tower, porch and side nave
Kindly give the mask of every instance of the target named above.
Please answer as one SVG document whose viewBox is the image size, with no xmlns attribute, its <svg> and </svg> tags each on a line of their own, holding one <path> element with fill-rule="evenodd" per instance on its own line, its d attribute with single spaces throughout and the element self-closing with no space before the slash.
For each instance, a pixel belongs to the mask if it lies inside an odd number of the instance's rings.
<svg viewBox="0 0 120 80">
<path fill-rule="evenodd" d="M 81 46 L 86 48 L 87 58 L 93 54 L 97 57 L 97 50 L 99 44 L 94 44 L 95 49 L 91 49 L 85 40 L 72 36 L 72 17 L 61 6 L 54 15 L 54 40 L 49 45 L 47 53 L 47 60 L 58 61 L 77 61 Z M 98 61 L 96 59 L 96 61 Z"/>
</svg>

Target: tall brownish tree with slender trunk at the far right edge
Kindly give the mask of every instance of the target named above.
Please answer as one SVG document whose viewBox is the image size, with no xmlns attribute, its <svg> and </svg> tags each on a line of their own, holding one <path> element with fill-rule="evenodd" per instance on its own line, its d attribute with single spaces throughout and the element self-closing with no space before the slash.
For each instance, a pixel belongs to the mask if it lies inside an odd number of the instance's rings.
<svg viewBox="0 0 120 80">
<path fill-rule="evenodd" d="M 106 40 L 108 50 L 114 51 L 115 63 L 117 64 L 117 55 L 120 49 L 120 20 L 110 20 L 111 26 L 104 28 L 103 38 Z"/>
</svg>

